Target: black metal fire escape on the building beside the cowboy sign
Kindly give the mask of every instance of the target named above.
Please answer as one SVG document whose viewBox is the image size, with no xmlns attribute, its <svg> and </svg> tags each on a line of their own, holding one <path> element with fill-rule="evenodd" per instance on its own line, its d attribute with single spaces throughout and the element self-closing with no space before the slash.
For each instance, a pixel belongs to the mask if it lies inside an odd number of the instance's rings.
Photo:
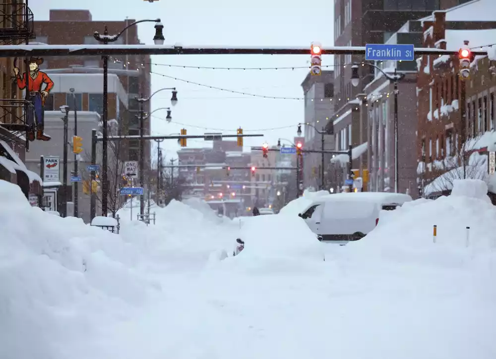
<svg viewBox="0 0 496 359">
<path fill-rule="evenodd" d="M 7 1 L 7 0 L 4 0 Z M 11 0 L 0 3 L 0 45 L 29 44 L 29 39 L 35 38 L 33 12 L 26 3 L 17 3 L 21 0 Z M 3 96 L 0 99 L 0 140 L 15 141 L 24 135 L 34 124 L 27 124 L 26 114 L 33 114 L 31 102 L 17 98 L 17 81 L 13 75 L 13 67 L 19 67 L 22 74 L 22 60 L 27 68 L 27 59 L 13 59 L 13 66 L 7 64 L 7 76 L 3 76 Z M 8 76 L 11 76 L 10 83 Z M 29 76 L 28 76 L 29 77 Z M 34 116 L 30 116 L 34 118 Z M 26 150 L 29 142 L 25 141 Z"/>
</svg>

